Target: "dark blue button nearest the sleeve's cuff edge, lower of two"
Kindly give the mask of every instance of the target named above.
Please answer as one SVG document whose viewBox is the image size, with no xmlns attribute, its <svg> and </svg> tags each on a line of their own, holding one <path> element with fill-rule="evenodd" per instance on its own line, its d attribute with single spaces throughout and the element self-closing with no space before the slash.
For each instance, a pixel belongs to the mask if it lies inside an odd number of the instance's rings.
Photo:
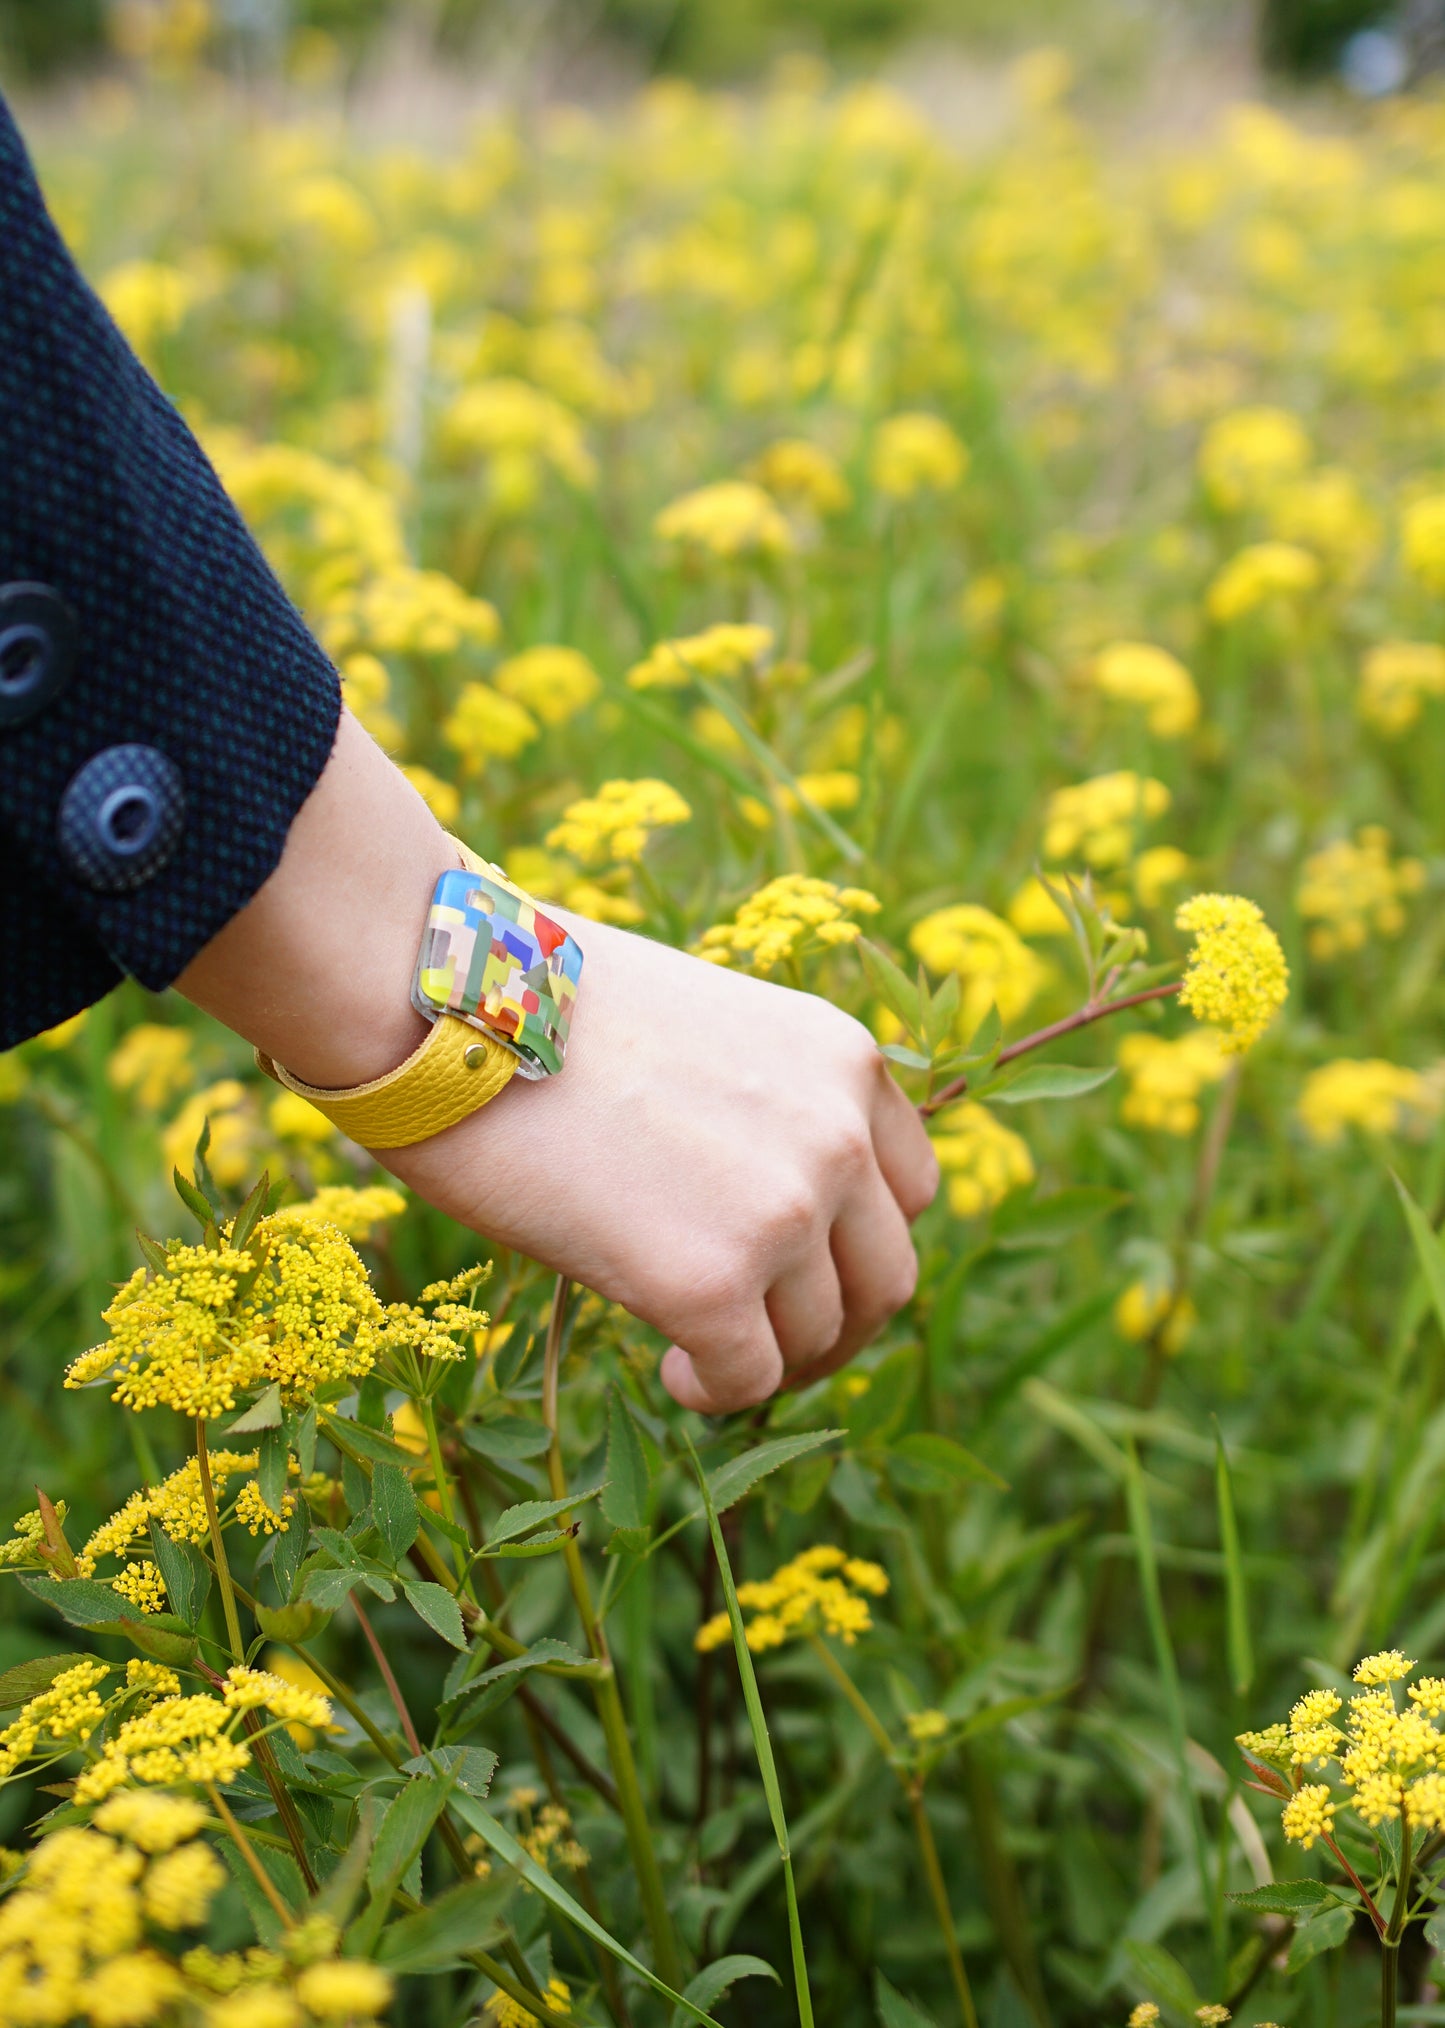
<svg viewBox="0 0 1445 2028">
<path fill-rule="evenodd" d="M 61 858 L 95 894 L 126 894 L 170 860 L 184 813 L 174 760 L 154 746 L 107 746 L 61 797 Z"/>
</svg>

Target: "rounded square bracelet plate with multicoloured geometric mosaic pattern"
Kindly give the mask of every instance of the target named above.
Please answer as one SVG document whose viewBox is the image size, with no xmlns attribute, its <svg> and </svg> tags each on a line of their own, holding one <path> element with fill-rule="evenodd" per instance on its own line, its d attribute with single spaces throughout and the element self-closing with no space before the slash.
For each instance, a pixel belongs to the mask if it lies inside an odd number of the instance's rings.
<svg viewBox="0 0 1445 2028">
<path fill-rule="evenodd" d="M 582 951 L 499 868 L 436 882 L 411 1000 L 436 1020 L 460 1014 L 519 1059 L 519 1077 L 551 1077 L 567 1053 Z"/>
</svg>

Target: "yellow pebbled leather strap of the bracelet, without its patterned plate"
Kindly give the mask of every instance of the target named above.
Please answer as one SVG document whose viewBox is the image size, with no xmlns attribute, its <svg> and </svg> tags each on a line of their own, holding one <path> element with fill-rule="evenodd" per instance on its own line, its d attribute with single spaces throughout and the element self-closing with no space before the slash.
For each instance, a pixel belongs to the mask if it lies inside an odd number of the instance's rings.
<svg viewBox="0 0 1445 2028">
<path fill-rule="evenodd" d="M 484 862 L 454 840 L 468 872 Z M 478 1105 L 495 1099 L 517 1069 L 517 1059 L 501 1042 L 458 1014 L 442 1014 L 405 1063 L 369 1085 L 349 1091 L 326 1091 L 304 1085 L 300 1077 L 257 1048 L 255 1063 L 268 1077 L 298 1097 L 308 1099 L 334 1128 L 363 1148 L 409 1148 L 430 1140 L 444 1128 L 454 1128 Z"/>
</svg>

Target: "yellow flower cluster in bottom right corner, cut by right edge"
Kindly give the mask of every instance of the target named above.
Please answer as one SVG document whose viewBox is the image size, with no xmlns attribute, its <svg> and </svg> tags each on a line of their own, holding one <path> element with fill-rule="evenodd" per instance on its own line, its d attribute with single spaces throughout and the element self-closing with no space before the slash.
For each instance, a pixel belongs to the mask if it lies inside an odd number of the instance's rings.
<svg viewBox="0 0 1445 2028">
<path fill-rule="evenodd" d="M 1411 1683 L 1400 1706 L 1396 1683 L 1413 1669 L 1398 1649 L 1366 1655 L 1348 1708 L 1338 1691 L 1311 1689 L 1287 1724 L 1240 1734 L 1248 1756 L 1295 1785 L 1283 1809 L 1285 1837 L 1309 1850 L 1317 1837 L 1332 1837 L 1346 1809 L 1370 1829 L 1400 1817 L 1417 1829 L 1445 1829 L 1445 1734 L 1437 1724 L 1445 1716 L 1445 1677 Z M 1342 1710 L 1344 1724 L 1336 1724 Z M 1329 1781 L 1299 1785 L 1301 1768 L 1334 1774 L 1346 1793 L 1338 1797 Z"/>
</svg>

